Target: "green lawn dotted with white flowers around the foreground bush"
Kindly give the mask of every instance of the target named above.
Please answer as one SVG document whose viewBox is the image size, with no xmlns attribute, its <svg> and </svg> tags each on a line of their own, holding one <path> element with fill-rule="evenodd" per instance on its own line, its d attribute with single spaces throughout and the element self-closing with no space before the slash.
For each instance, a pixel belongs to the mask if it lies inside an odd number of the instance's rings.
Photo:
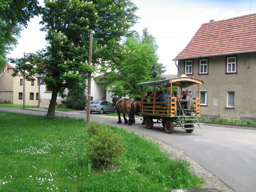
<svg viewBox="0 0 256 192">
<path fill-rule="evenodd" d="M 71 118 L 47 120 L 0 112 L 0 192 L 91 191 L 168 192 L 200 188 L 202 179 L 184 160 L 170 160 L 140 136 L 122 134 L 126 152 L 110 170 L 93 170 L 86 155 L 86 122 Z"/>
</svg>

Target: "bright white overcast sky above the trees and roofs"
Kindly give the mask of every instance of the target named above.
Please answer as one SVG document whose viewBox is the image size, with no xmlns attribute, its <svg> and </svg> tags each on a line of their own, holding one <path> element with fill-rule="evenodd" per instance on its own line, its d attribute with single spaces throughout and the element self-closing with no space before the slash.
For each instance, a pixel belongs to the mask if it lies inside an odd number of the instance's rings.
<svg viewBox="0 0 256 192">
<path fill-rule="evenodd" d="M 203 23 L 256 13 L 256 0 L 132 0 L 140 17 L 134 26 L 138 32 L 147 27 L 156 37 L 159 62 L 165 74 L 177 74 L 174 57 L 181 52 Z M 40 18 L 32 19 L 21 33 L 19 45 L 9 57 L 45 48 L 45 33 L 40 32 Z"/>
</svg>

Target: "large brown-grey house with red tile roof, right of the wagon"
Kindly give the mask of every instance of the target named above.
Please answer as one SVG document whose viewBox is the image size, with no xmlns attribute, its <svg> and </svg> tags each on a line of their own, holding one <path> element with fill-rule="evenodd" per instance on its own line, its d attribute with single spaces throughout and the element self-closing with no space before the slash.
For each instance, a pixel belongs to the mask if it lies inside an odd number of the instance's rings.
<svg viewBox="0 0 256 192">
<path fill-rule="evenodd" d="M 179 74 L 204 81 L 202 116 L 256 120 L 256 14 L 202 24 L 174 60 Z"/>
</svg>

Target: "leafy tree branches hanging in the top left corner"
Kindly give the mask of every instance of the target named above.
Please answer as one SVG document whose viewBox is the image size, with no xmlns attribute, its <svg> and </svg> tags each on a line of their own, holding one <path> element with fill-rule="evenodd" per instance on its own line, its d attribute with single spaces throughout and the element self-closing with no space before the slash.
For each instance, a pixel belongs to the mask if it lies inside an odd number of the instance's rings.
<svg viewBox="0 0 256 192">
<path fill-rule="evenodd" d="M 0 69 L 6 66 L 6 54 L 13 50 L 22 26 L 40 12 L 37 0 L 0 0 Z"/>
</svg>

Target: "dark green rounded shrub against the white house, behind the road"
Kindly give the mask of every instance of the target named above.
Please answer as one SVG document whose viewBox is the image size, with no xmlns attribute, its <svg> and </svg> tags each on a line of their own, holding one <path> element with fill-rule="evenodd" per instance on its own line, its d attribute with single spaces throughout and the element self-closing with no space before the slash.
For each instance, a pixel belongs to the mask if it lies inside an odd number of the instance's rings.
<svg viewBox="0 0 256 192">
<path fill-rule="evenodd" d="M 70 109 L 84 109 L 86 104 L 86 95 L 84 94 L 84 86 L 74 87 L 68 90 L 68 95 L 66 97 L 66 107 Z"/>
</svg>

